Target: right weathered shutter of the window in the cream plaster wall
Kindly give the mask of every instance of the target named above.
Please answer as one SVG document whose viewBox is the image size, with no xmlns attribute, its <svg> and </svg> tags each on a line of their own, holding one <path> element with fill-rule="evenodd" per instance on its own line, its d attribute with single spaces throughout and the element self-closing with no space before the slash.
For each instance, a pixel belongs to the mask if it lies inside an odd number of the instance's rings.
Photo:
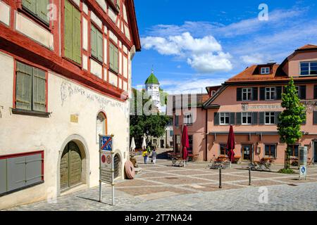
<svg viewBox="0 0 317 225">
<path fill-rule="evenodd" d="M 33 68 L 33 110 L 46 112 L 46 75 L 43 70 Z"/>
</svg>

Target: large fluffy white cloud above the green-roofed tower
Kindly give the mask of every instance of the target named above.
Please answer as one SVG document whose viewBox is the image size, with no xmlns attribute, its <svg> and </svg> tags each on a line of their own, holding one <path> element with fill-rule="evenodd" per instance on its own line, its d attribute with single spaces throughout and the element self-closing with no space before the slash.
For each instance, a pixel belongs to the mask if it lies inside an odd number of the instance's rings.
<svg viewBox="0 0 317 225">
<path fill-rule="evenodd" d="M 162 55 L 184 58 L 187 64 L 201 73 L 232 70 L 230 54 L 212 36 L 194 38 L 189 32 L 169 37 L 145 37 L 144 49 L 154 49 Z"/>
</svg>

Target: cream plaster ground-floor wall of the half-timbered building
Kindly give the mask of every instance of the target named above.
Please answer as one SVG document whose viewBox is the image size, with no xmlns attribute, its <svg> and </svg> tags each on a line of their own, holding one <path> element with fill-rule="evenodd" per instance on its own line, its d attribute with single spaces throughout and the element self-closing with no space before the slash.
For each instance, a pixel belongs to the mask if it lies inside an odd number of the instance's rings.
<svg viewBox="0 0 317 225">
<path fill-rule="evenodd" d="M 13 58 L 0 53 L 0 149 L 1 155 L 44 150 L 44 184 L 0 197 L 0 209 L 44 200 L 58 194 L 58 159 L 63 143 L 78 135 L 87 144 L 89 160 L 87 185 L 99 184 L 99 155 L 96 143 L 96 117 L 106 113 L 108 134 L 114 134 L 113 148 L 123 159 L 128 157 L 129 103 L 102 96 L 83 86 L 49 72 L 49 118 L 13 115 Z M 70 115 L 79 122 L 70 122 Z M 125 156 L 125 158 L 123 158 Z M 121 169 L 123 176 L 124 169 Z"/>
</svg>

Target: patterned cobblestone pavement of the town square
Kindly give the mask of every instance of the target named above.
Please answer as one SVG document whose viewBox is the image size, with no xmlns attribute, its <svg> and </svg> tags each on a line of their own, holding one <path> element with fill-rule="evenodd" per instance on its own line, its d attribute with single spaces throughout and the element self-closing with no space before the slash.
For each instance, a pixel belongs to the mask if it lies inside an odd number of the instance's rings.
<svg viewBox="0 0 317 225">
<path fill-rule="evenodd" d="M 104 203 L 98 202 L 95 187 L 63 195 L 56 203 L 42 201 L 9 210 L 317 210 L 317 167 L 309 167 L 308 179 L 302 181 L 298 174 L 251 172 L 249 186 L 247 165 L 234 165 L 223 170 L 219 189 L 218 171 L 207 166 L 192 162 L 185 168 L 171 167 L 169 160 L 140 164 L 142 172 L 134 180 L 116 184 L 116 206 L 110 205 L 111 187 L 104 185 Z"/>
</svg>

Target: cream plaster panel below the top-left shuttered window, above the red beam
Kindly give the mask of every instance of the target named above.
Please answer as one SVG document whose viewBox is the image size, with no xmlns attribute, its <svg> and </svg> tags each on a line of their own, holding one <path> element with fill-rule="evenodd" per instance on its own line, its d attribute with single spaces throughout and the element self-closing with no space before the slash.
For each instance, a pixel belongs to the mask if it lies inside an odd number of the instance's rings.
<svg viewBox="0 0 317 225">
<path fill-rule="evenodd" d="M 15 29 L 18 30 L 18 32 L 25 34 L 27 37 L 30 37 L 51 50 L 54 49 L 53 34 L 18 12 L 15 13 L 15 18 Z"/>
</svg>

